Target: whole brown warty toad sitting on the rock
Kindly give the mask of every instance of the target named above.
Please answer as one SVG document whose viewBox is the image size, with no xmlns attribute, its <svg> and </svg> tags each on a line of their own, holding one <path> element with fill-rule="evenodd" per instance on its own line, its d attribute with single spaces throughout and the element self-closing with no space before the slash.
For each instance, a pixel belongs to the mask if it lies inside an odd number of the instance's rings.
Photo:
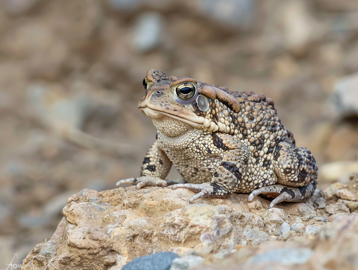
<svg viewBox="0 0 358 270">
<path fill-rule="evenodd" d="M 188 84 L 194 95 L 183 99 L 178 89 Z M 139 109 L 152 118 L 157 137 L 144 158 L 141 177 L 121 180 L 117 186 L 166 186 L 163 179 L 174 164 L 187 183 L 172 188 L 197 192 L 190 202 L 241 192 L 251 193 L 249 201 L 258 194 L 276 197 L 273 207 L 281 201 L 304 201 L 314 193 L 315 158 L 306 148 L 295 148 L 272 99 L 187 77 L 168 78 L 155 70 L 148 71 L 144 86 Z"/>
</svg>

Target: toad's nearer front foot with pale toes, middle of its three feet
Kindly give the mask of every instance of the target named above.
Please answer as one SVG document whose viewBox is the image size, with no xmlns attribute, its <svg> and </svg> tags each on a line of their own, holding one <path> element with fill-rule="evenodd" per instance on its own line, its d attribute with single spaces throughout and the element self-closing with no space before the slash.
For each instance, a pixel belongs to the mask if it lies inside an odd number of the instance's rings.
<svg viewBox="0 0 358 270">
<path fill-rule="evenodd" d="M 230 193 L 226 191 L 222 186 L 216 183 L 202 183 L 202 184 L 191 184 L 191 183 L 185 183 L 185 184 L 174 184 L 171 186 L 173 190 L 184 188 L 189 189 L 195 192 L 198 192 L 198 194 L 194 195 L 190 199 L 190 203 L 192 203 L 194 200 L 202 197 L 211 197 L 211 198 L 225 198 Z"/>
</svg>

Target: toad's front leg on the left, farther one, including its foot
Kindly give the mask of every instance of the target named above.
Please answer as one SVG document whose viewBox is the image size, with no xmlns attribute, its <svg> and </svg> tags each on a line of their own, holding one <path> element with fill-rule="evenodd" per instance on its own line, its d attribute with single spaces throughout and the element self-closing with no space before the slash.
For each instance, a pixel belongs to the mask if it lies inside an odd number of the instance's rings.
<svg viewBox="0 0 358 270">
<path fill-rule="evenodd" d="M 119 180 L 116 183 L 117 187 L 122 184 L 135 184 L 136 189 L 145 186 L 167 186 L 167 181 L 164 179 L 167 177 L 172 163 L 158 144 L 158 141 L 155 141 L 145 155 L 141 177 Z"/>
</svg>

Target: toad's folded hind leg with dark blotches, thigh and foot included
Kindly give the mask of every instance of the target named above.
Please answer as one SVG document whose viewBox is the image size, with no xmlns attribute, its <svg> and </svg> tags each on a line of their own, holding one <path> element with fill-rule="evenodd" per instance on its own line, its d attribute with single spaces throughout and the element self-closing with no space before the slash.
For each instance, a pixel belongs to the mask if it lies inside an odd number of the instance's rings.
<svg viewBox="0 0 358 270">
<path fill-rule="evenodd" d="M 277 193 L 279 195 L 270 204 L 270 207 L 273 207 L 282 201 L 305 201 L 314 194 L 318 167 L 309 150 L 295 149 L 294 144 L 288 138 L 284 138 L 277 144 L 273 163 L 278 184 L 254 190 L 249 196 L 249 201 L 258 194 Z"/>
</svg>

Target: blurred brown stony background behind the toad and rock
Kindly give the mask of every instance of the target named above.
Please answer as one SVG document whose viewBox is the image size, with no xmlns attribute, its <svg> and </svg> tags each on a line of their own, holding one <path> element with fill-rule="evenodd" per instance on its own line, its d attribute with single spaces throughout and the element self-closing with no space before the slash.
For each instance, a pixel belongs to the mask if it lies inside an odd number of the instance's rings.
<svg viewBox="0 0 358 270">
<path fill-rule="evenodd" d="M 0 40 L 0 269 L 70 195 L 139 176 L 150 68 L 273 98 L 320 189 L 358 171 L 355 0 L 2 0 Z"/>
</svg>

